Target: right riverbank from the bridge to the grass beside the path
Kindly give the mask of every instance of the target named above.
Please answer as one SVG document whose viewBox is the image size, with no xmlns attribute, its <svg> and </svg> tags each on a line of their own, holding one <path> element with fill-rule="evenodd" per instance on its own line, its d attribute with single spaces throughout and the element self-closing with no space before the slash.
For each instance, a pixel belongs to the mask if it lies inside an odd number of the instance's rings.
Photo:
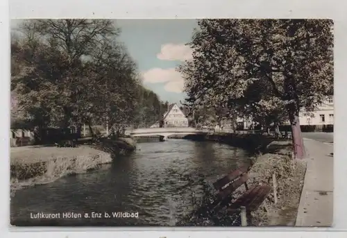
<svg viewBox="0 0 347 238">
<path fill-rule="evenodd" d="M 219 142 L 254 153 L 253 166 L 248 173 L 248 185 L 252 186 L 260 182 L 273 186 L 273 174 L 275 174 L 278 198 L 275 204 L 273 192 L 269 194 L 259 209 L 253 212 L 252 225 L 295 226 L 303 190 L 306 162 L 292 160 L 290 140 L 276 141 L 267 135 L 251 133 L 213 133 L 212 135 L 179 135 L 178 137 L 174 135 L 171 138 Z M 235 195 L 240 196 L 242 192 L 242 189 L 239 189 Z M 206 197 L 209 196 L 206 195 Z M 224 218 L 221 220 L 224 223 L 232 222 Z M 223 221 L 219 225 L 225 225 Z"/>
</svg>

